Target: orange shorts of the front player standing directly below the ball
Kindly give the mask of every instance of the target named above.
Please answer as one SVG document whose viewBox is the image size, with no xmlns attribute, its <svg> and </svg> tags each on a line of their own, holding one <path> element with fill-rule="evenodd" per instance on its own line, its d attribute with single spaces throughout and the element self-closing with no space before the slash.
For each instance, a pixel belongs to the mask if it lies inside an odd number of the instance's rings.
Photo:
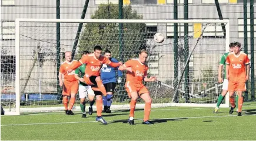
<svg viewBox="0 0 256 141">
<path fill-rule="evenodd" d="M 149 93 L 147 87 L 143 84 L 131 84 L 130 81 L 127 81 L 125 83 L 125 90 L 128 92 L 129 98 L 131 98 L 132 92 L 137 92 L 137 94 L 140 96 L 144 93 Z"/>
</svg>

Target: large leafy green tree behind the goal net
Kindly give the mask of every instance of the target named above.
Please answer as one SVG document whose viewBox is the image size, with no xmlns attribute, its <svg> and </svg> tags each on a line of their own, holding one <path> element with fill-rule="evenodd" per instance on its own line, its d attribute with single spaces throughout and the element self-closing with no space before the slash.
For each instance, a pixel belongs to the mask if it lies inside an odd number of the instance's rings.
<svg viewBox="0 0 256 141">
<path fill-rule="evenodd" d="M 124 19 L 142 19 L 131 5 L 123 7 Z M 91 19 L 118 19 L 118 5 L 101 4 Z M 124 23 L 122 29 L 124 61 L 135 57 L 138 51 L 147 48 L 147 29 L 144 23 Z M 87 23 L 79 39 L 79 52 L 93 50 L 95 45 L 100 45 L 104 50 L 112 51 L 112 56 L 119 58 L 119 27 L 118 23 Z M 79 54 L 77 57 L 81 57 Z"/>
</svg>

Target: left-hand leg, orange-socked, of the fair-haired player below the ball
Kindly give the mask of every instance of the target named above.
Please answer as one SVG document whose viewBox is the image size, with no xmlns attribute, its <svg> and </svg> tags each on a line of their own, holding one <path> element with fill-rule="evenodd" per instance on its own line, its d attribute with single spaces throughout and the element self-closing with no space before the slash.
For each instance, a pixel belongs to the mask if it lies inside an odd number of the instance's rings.
<svg viewBox="0 0 256 141">
<path fill-rule="evenodd" d="M 135 106 L 137 103 L 138 99 L 138 93 L 137 92 L 131 92 L 131 102 L 130 102 L 130 114 L 129 114 L 129 124 L 134 125 L 134 111 L 135 111 Z"/>
</svg>

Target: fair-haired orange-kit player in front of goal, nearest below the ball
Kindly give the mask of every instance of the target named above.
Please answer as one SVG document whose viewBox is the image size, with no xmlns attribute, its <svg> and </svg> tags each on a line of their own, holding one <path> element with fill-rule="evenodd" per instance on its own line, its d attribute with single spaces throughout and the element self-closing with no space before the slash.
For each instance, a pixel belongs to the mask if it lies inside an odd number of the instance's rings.
<svg viewBox="0 0 256 141">
<path fill-rule="evenodd" d="M 147 77 L 148 66 L 145 64 L 147 57 L 147 50 L 141 50 L 138 59 L 131 59 L 123 66 L 119 67 L 119 70 L 121 71 L 127 70 L 125 90 L 128 92 L 129 98 L 131 98 L 130 114 L 128 119 L 130 125 L 134 125 L 134 110 L 138 97 L 141 97 L 145 101 L 144 120 L 142 123 L 152 124 L 152 122 L 149 121 L 152 99 L 149 95 L 148 89 L 142 84 L 142 81 L 152 82 L 156 80 L 156 77 Z"/>
</svg>

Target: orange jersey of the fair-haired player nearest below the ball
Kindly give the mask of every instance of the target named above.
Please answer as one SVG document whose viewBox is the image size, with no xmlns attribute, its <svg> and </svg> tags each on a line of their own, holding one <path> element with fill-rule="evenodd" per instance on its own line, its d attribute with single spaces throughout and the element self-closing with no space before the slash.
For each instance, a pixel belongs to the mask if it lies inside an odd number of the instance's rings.
<svg viewBox="0 0 256 141">
<path fill-rule="evenodd" d="M 127 71 L 127 82 L 142 84 L 144 77 L 147 77 L 148 66 L 147 64 L 141 63 L 139 59 L 131 59 L 124 66 L 132 68 L 132 73 Z"/>
</svg>

